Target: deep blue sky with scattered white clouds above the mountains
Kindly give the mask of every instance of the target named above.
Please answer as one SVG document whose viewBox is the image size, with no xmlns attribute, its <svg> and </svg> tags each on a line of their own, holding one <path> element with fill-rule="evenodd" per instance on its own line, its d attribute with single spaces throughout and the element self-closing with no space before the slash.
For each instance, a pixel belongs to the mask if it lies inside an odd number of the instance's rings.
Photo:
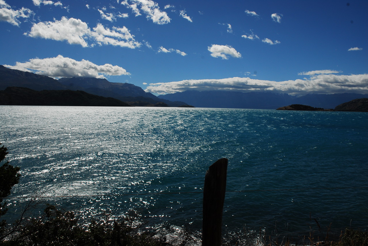
<svg viewBox="0 0 368 246">
<path fill-rule="evenodd" d="M 0 0 L 0 64 L 155 94 L 368 93 L 368 1 Z"/>
</svg>

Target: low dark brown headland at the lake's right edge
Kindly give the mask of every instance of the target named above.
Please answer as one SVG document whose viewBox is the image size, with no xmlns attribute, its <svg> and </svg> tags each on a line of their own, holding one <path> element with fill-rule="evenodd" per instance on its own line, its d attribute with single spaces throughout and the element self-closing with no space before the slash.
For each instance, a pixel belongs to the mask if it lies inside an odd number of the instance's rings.
<svg viewBox="0 0 368 246">
<path fill-rule="evenodd" d="M 314 108 L 302 104 L 291 104 L 280 107 L 277 110 L 297 110 L 297 111 L 347 111 L 347 112 L 368 112 L 368 98 L 358 98 L 343 104 L 337 105 L 335 109 Z"/>
</svg>

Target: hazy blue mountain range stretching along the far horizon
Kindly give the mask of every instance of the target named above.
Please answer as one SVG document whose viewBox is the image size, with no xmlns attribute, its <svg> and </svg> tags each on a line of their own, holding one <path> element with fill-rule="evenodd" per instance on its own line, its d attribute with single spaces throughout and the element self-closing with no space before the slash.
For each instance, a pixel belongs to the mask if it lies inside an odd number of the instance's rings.
<svg viewBox="0 0 368 246">
<path fill-rule="evenodd" d="M 112 83 L 90 77 L 61 78 L 59 80 L 0 65 L 0 90 L 7 87 L 26 87 L 32 90 L 72 90 L 102 97 L 112 97 L 136 106 L 193 105 L 203 108 L 277 109 L 285 105 L 303 104 L 315 108 L 335 108 L 344 102 L 367 98 L 368 94 L 307 94 L 294 96 L 272 92 L 196 91 L 187 90 L 166 95 L 153 95 L 129 83 Z"/>
</svg>

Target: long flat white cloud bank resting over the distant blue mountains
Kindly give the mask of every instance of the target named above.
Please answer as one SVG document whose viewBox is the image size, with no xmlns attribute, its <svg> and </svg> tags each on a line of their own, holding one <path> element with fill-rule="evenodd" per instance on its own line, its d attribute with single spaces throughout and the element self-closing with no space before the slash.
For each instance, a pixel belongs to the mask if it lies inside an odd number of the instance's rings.
<svg viewBox="0 0 368 246">
<path fill-rule="evenodd" d="M 231 90 L 241 92 L 271 91 L 304 95 L 308 93 L 368 93 L 368 74 L 333 75 L 322 74 L 310 79 L 287 80 L 282 82 L 233 77 L 227 79 L 182 80 L 168 83 L 152 83 L 146 92 L 166 94 L 186 90 Z"/>
</svg>

